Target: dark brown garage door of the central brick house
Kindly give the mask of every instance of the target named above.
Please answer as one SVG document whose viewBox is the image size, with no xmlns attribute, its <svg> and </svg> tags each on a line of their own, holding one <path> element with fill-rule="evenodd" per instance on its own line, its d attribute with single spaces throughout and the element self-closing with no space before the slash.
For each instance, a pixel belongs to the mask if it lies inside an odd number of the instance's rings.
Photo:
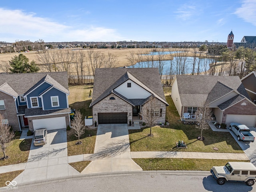
<svg viewBox="0 0 256 192">
<path fill-rule="evenodd" d="M 98 113 L 99 124 L 127 123 L 127 113 Z"/>
</svg>

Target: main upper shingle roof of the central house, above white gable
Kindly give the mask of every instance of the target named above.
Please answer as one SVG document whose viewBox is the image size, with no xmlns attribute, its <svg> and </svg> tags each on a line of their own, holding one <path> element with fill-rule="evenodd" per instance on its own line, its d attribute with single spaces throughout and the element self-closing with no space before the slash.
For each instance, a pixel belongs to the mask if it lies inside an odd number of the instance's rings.
<svg viewBox="0 0 256 192">
<path fill-rule="evenodd" d="M 90 106 L 111 94 L 114 88 L 128 79 L 151 92 L 156 98 L 168 105 L 157 68 L 96 68 Z"/>
</svg>

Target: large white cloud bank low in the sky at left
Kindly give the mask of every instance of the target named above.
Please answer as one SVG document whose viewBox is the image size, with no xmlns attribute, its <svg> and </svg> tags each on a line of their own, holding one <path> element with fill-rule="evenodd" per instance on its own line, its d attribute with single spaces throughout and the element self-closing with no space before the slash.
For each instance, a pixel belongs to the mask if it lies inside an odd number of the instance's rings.
<svg viewBox="0 0 256 192">
<path fill-rule="evenodd" d="M 61 41 L 117 41 L 122 37 L 114 29 L 90 26 L 75 28 L 54 22 L 49 18 L 37 17 L 34 13 L 22 10 L 6 10 L 0 8 L 0 36 L 2 41 L 19 40 L 45 42 Z M 22 38 L 22 39 L 21 39 Z"/>
</svg>

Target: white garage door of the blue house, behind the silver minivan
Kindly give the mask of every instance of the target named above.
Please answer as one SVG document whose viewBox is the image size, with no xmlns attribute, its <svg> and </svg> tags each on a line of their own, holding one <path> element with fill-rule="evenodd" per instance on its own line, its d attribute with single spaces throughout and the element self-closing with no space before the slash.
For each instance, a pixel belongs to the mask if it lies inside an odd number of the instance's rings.
<svg viewBox="0 0 256 192">
<path fill-rule="evenodd" d="M 41 129 L 41 128 L 46 128 L 47 130 L 66 128 L 65 117 L 34 119 L 32 120 L 32 122 L 33 122 L 34 130 Z"/>
</svg>

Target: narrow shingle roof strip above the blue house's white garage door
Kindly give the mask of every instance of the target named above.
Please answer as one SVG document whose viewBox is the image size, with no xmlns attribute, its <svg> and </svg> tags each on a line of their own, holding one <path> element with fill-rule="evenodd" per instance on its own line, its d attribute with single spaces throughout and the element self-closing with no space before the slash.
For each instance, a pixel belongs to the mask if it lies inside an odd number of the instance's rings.
<svg viewBox="0 0 256 192">
<path fill-rule="evenodd" d="M 55 115 L 60 113 L 70 113 L 70 108 L 67 109 L 54 109 L 54 110 L 43 110 L 42 108 L 26 108 L 25 117 L 27 116 L 40 116 L 40 115 Z"/>
</svg>

